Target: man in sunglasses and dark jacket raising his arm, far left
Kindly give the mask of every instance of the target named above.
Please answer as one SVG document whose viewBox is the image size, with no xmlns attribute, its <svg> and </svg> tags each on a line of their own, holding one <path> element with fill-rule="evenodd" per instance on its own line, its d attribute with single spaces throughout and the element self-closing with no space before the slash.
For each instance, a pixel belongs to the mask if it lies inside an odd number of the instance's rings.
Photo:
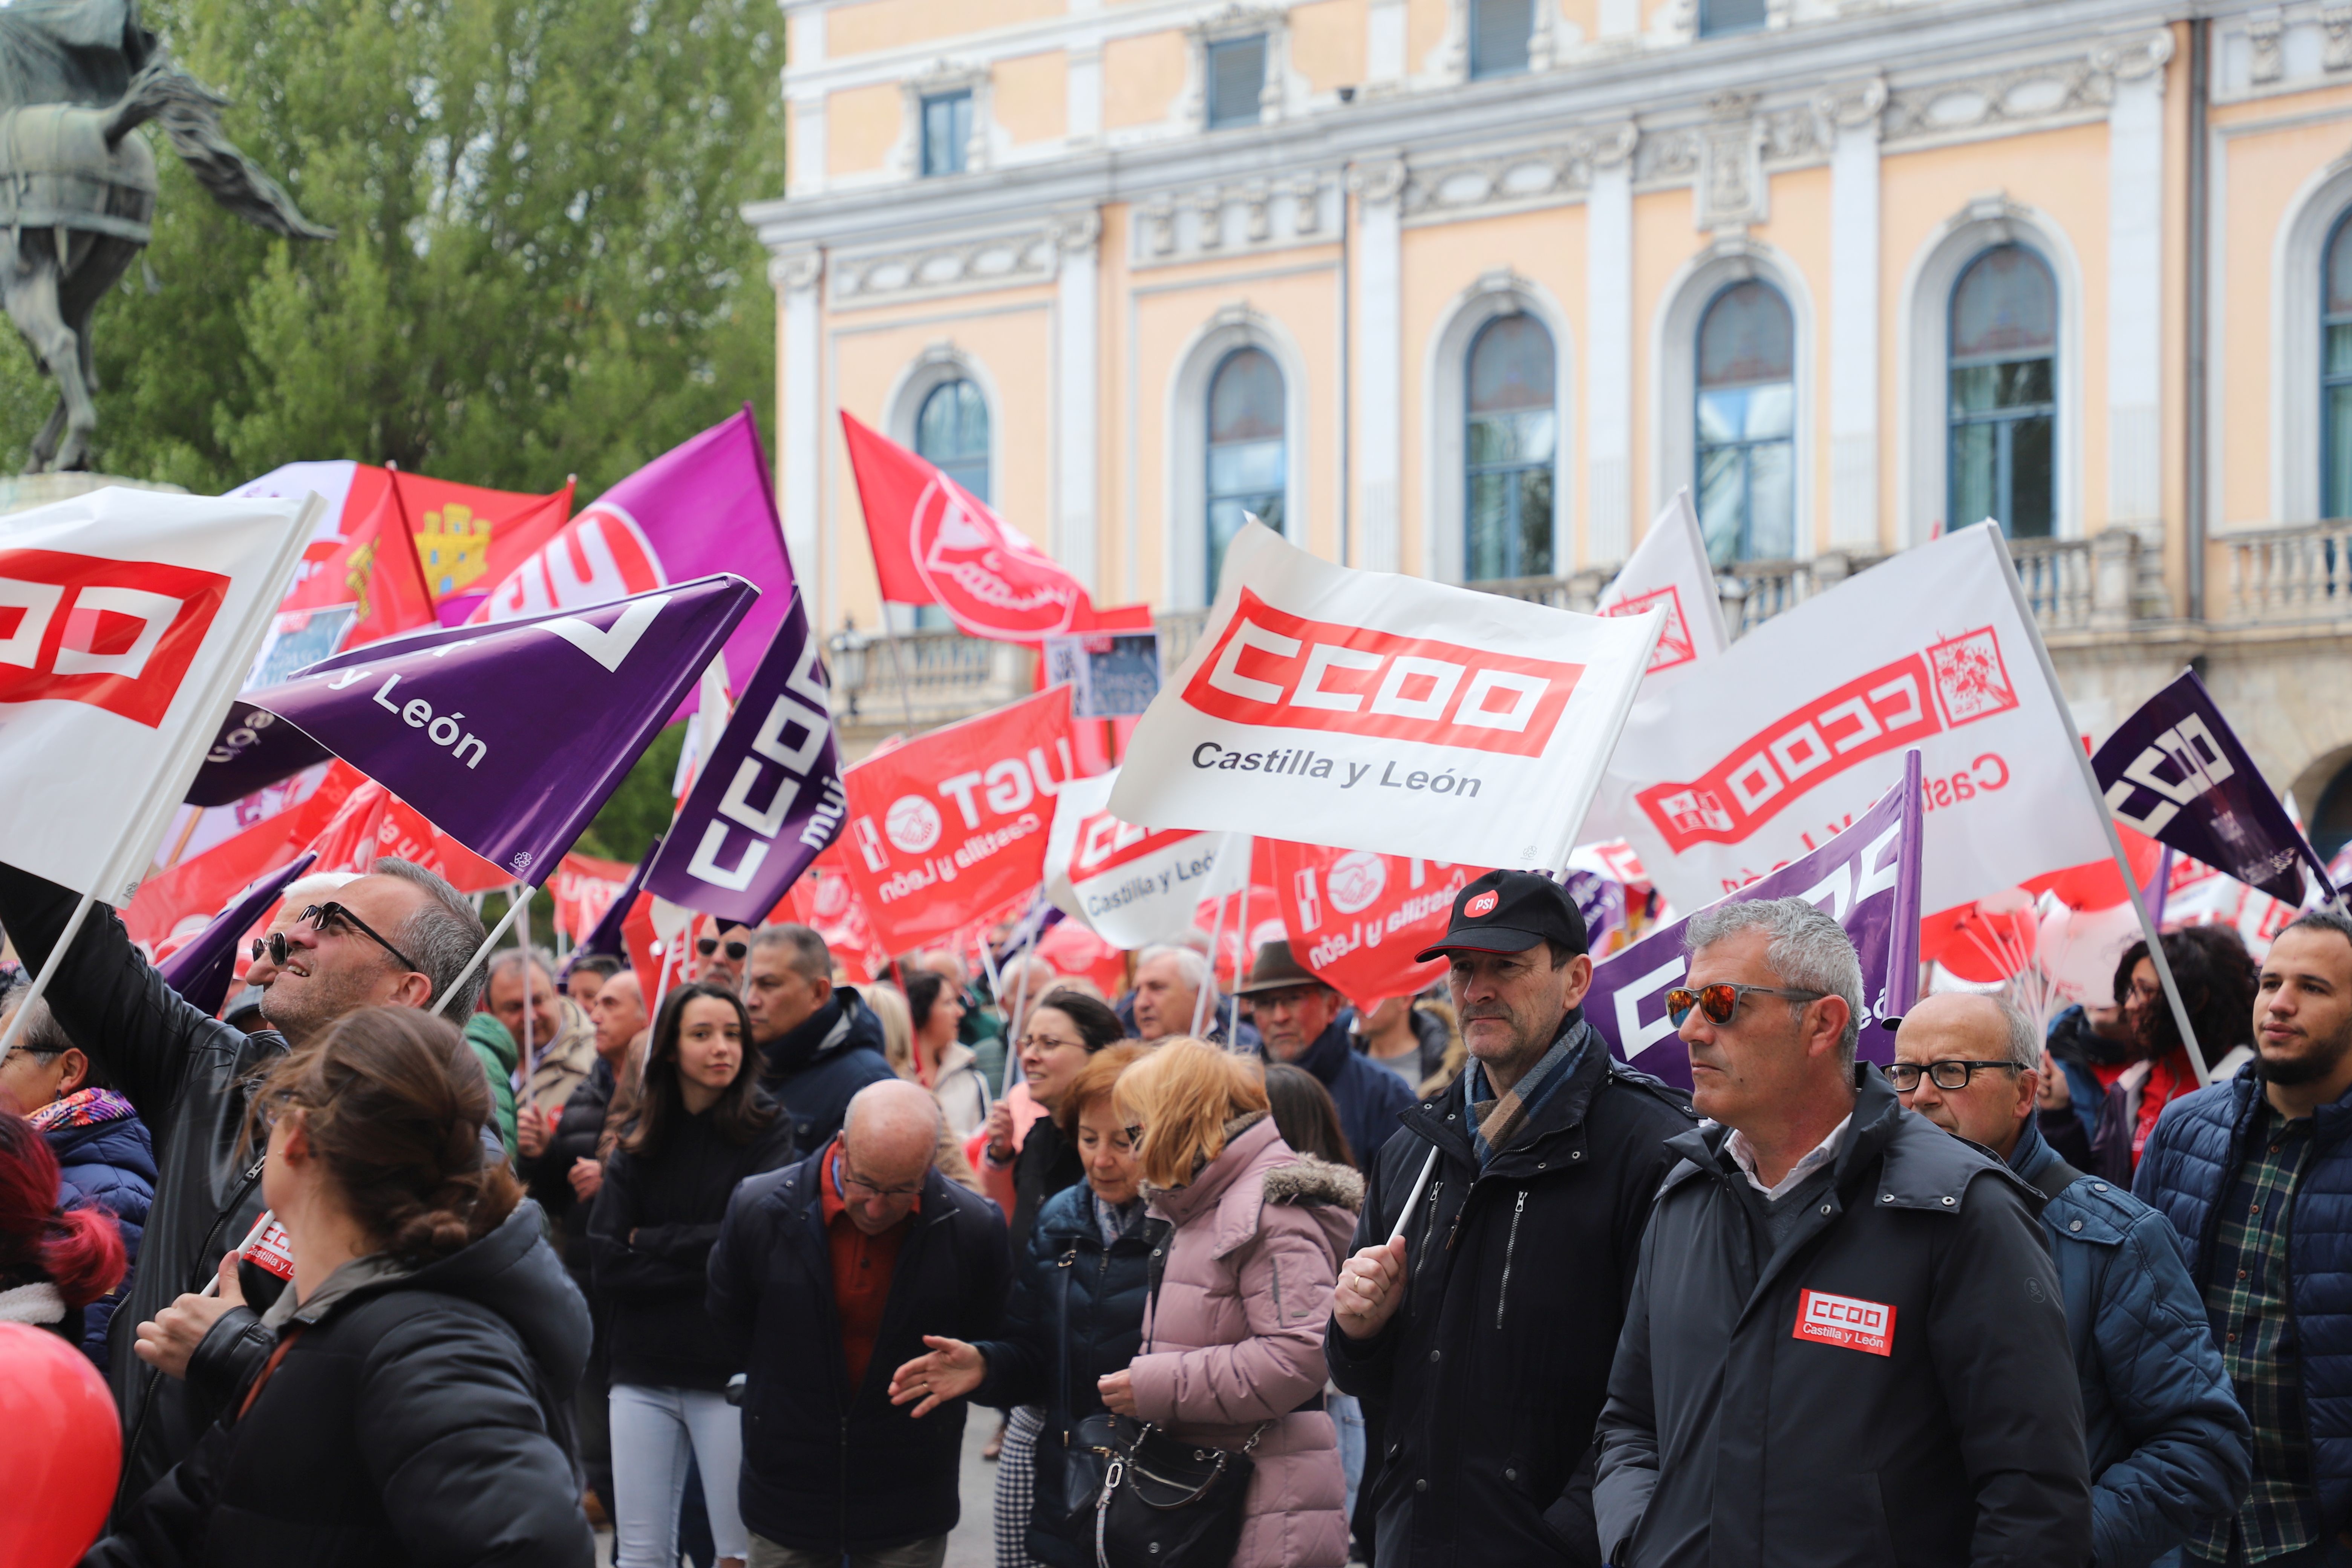
<svg viewBox="0 0 2352 1568">
<path fill-rule="evenodd" d="M 75 903 L 54 882 L 0 865 L 0 926 L 35 973 Z M 447 882 L 409 860 L 376 860 L 369 875 L 308 896 L 270 931 L 261 999 L 270 1027 L 247 1034 L 181 1001 L 103 903 L 82 922 L 47 1001 L 155 1133 L 158 1154 L 139 1274 L 111 1335 L 108 1380 L 125 1429 L 118 1497 L 141 1495 L 216 1415 L 212 1399 L 181 1380 L 191 1352 L 207 1335 L 221 1354 L 249 1340 L 252 1312 L 240 1307 L 223 1255 L 261 1213 L 261 1161 L 240 1145 L 254 1077 L 343 1013 L 445 999 L 482 936 L 473 905 Z M 480 983 L 475 971 L 456 987 L 452 1018 L 473 1013 Z M 216 1276 L 223 1293 L 198 1295 Z"/>
</svg>

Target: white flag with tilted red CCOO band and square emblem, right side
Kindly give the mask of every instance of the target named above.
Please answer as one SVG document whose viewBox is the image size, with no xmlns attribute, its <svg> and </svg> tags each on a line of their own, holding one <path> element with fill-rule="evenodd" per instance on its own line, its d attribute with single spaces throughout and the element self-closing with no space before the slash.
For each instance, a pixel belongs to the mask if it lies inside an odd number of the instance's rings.
<svg viewBox="0 0 2352 1568">
<path fill-rule="evenodd" d="M 1924 764 L 1922 910 L 2107 858 L 2100 806 L 1999 529 L 1905 550 L 1637 703 L 1604 809 L 1700 907 L 1820 849 Z"/>
</svg>

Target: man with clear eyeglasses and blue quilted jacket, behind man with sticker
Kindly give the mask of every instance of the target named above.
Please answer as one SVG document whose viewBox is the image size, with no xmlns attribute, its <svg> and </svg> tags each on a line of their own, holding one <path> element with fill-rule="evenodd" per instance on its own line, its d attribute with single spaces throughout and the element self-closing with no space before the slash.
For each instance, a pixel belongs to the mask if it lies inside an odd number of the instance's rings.
<svg viewBox="0 0 2352 1568">
<path fill-rule="evenodd" d="M 2140 1568 L 2227 1526 L 2249 1427 L 2171 1225 L 2074 1171 L 2034 1126 L 2042 1030 L 2006 997 L 1926 997 L 1898 1020 L 1886 1081 L 1910 1110 L 2042 1190 L 2091 1455 L 2098 1568 Z"/>
</svg>

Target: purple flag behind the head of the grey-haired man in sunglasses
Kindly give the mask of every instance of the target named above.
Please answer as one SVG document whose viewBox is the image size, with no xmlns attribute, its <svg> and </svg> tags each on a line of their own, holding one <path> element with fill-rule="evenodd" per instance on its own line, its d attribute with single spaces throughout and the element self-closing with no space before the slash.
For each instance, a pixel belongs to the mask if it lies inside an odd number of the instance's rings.
<svg viewBox="0 0 2352 1568">
<path fill-rule="evenodd" d="M 1860 1053 L 1891 1060 L 1893 1034 L 1870 1025 L 1900 1018 L 1919 985 L 1919 752 L 1910 752 L 1903 783 L 1844 832 L 1719 903 L 1790 896 L 1828 907 L 1853 938 L 1863 959 Z M 1623 1060 L 1684 1088 L 1691 1058 L 1665 1016 L 1665 992 L 1691 971 L 1689 924 L 1677 919 L 1597 964 L 1585 992 L 1585 1018 Z"/>
</svg>

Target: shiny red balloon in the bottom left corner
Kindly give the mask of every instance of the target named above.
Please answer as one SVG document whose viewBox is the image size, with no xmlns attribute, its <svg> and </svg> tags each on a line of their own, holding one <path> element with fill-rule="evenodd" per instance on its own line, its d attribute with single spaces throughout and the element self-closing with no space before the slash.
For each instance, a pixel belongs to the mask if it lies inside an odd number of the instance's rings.
<svg viewBox="0 0 2352 1568">
<path fill-rule="evenodd" d="M 0 1432 L 9 1490 L 0 1563 L 71 1568 L 99 1537 L 122 1469 L 122 1420 L 89 1359 L 26 1324 L 0 1324 Z"/>
</svg>

